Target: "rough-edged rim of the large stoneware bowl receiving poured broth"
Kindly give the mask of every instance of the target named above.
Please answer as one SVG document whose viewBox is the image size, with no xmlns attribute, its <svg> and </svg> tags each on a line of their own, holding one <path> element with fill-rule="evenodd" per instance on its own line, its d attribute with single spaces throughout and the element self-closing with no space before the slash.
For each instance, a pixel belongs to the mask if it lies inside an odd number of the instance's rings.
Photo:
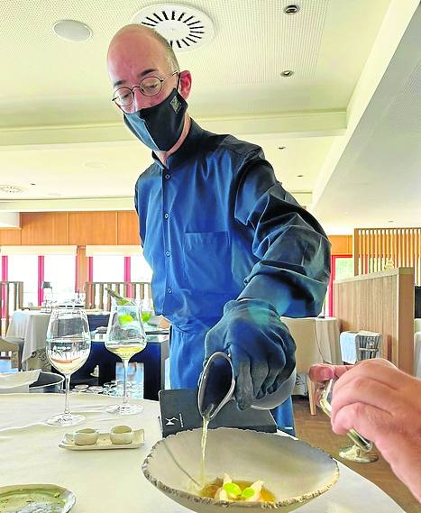
<svg viewBox="0 0 421 513">
<path fill-rule="evenodd" d="M 197 429 L 200 429 L 200 428 L 197 428 Z M 215 500 L 215 499 L 211 499 L 210 497 L 199 497 L 198 495 L 189 493 L 188 491 L 171 488 L 171 487 L 167 486 L 166 484 L 164 484 L 162 481 L 160 481 L 158 478 L 154 478 L 151 475 L 151 472 L 149 472 L 148 467 L 149 467 L 150 461 L 154 457 L 153 453 L 155 452 L 155 449 L 160 444 L 163 444 L 165 442 L 165 440 L 167 440 L 171 437 L 176 437 L 180 433 L 186 433 L 189 431 L 197 431 L 197 429 L 186 429 L 185 431 L 179 431 L 178 433 L 176 433 L 174 435 L 168 435 L 165 438 L 162 438 L 159 442 L 154 444 L 151 447 L 150 453 L 146 456 L 146 458 L 144 459 L 144 461 L 142 463 L 142 472 L 143 472 L 143 475 L 145 476 L 145 478 L 148 481 L 150 481 L 151 484 L 153 484 L 158 490 L 164 491 L 164 492 L 168 493 L 170 496 L 175 495 L 178 497 L 182 497 L 183 499 L 188 499 L 189 501 L 192 501 L 192 502 L 202 502 L 202 503 L 209 504 L 209 505 L 220 506 L 222 508 L 256 508 L 256 502 L 230 502 L 230 501 L 226 501 L 226 500 Z M 215 431 L 220 430 L 220 429 L 223 429 L 223 430 L 229 429 L 230 431 L 239 431 L 239 429 L 235 428 L 235 427 L 217 427 L 215 429 Z M 242 431 L 242 432 L 244 431 L 246 433 L 247 432 L 248 433 L 257 433 L 256 431 L 253 431 L 252 429 L 241 429 L 240 431 Z M 265 433 L 262 431 L 260 431 L 259 433 L 264 436 L 274 436 L 274 435 L 281 436 L 281 435 L 277 435 L 276 433 Z M 327 484 L 325 484 L 324 487 L 319 488 L 318 490 L 308 491 L 307 493 L 304 493 L 303 495 L 299 495 L 296 497 L 290 497 L 288 499 L 278 500 L 277 502 L 260 502 L 258 504 L 260 505 L 259 507 L 262 509 L 282 508 L 284 506 L 290 506 L 292 504 L 300 504 L 302 502 L 306 502 L 309 499 L 315 499 L 319 495 L 322 495 L 323 493 L 325 493 L 327 490 L 330 490 L 334 486 L 334 484 L 339 480 L 338 463 L 334 460 L 334 458 L 329 453 L 326 453 L 323 449 L 320 449 L 319 447 L 314 447 L 313 445 L 307 444 L 307 442 L 305 442 L 303 440 L 297 440 L 297 438 L 294 438 L 292 436 L 288 436 L 288 438 L 291 438 L 292 440 L 296 440 L 297 442 L 300 442 L 301 444 L 306 444 L 309 447 L 311 447 L 312 449 L 317 449 L 318 451 L 324 453 L 328 457 L 328 459 L 332 460 L 334 462 L 334 472 L 333 472 L 332 479 Z"/>
</svg>

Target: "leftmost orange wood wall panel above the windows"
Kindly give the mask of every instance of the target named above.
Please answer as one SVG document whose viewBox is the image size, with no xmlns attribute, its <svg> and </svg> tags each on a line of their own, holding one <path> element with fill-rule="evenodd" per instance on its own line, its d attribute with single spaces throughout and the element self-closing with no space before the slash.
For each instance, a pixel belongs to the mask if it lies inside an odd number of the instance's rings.
<svg viewBox="0 0 421 513">
<path fill-rule="evenodd" d="M 66 245 L 68 214 L 66 212 L 23 213 L 22 245 Z"/>
</svg>

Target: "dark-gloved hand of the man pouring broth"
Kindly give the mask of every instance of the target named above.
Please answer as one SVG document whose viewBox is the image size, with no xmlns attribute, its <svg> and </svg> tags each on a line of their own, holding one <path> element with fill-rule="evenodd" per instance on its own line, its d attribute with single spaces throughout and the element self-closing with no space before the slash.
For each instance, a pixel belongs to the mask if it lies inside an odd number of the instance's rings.
<svg viewBox="0 0 421 513">
<path fill-rule="evenodd" d="M 205 362 L 215 351 L 231 356 L 238 407 L 273 393 L 295 368 L 296 344 L 274 307 L 261 299 L 229 301 L 205 339 Z"/>
</svg>

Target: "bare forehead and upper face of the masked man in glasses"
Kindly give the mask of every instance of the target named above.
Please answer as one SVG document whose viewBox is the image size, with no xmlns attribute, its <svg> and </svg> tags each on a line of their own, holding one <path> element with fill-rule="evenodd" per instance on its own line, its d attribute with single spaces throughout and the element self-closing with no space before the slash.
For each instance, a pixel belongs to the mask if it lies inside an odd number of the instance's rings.
<svg viewBox="0 0 421 513">
<path fill-rule="evenodd" d="M 119 87 L 139 86 L 143 78 L 166 78 L 172 71 L 160 42 L 147 33 L 125 32 L 111 43 L 108 74 L 113 93 Z M 134 101 L 129 112 L 160 104 L 177 87 L 177 83 L 178 75 L 167 78 L 156 96 L 144 96 L 138 88 L 134 89 Z"/>
</svg>

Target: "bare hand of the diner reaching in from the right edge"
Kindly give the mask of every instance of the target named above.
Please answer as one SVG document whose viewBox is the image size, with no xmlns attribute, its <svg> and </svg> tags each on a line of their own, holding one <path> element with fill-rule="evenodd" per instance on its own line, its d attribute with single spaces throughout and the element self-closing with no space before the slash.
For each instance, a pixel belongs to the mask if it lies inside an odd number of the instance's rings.
<svg viewBox="0 0 421 513">
<path fill-rule="evenodd" d="M 376 444 L 393 472 L 421 501 L 421 380 L 387 360 L 354 366 L 314 365 L 310 379 L 334 384 L 332 428 L 356 429 Z"/>
</svg>

